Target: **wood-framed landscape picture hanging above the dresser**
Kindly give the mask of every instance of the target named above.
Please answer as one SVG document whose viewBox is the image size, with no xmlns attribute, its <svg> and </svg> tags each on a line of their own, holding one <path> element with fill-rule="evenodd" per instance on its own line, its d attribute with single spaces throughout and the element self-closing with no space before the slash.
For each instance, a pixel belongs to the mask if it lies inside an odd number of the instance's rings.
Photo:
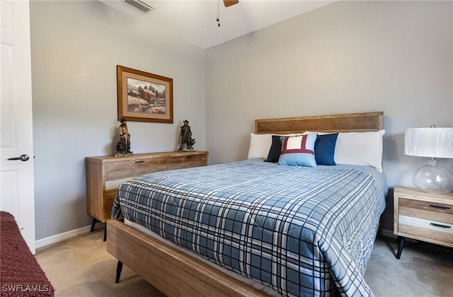
<svg viewBox="0 0 453 297">
<path fill-rule="evenodd" d="M 117 65 L 118 120 L 173 123 L 173 79 Z"/>
</svg>

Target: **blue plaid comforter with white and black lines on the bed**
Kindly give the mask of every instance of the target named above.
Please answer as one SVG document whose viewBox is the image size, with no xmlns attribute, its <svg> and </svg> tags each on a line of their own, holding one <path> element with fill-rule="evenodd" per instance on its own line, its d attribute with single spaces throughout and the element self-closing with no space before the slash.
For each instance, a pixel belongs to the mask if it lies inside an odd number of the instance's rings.
<svg viewBox="0 0 453 297">
<path fill-rule="evenodd" d="M 249 160 L 136 177 L 120 185 L 112 217 L 284 296 L 372 296 L 362 273 L 383 185 L 358 168 Z"/>
</svg>

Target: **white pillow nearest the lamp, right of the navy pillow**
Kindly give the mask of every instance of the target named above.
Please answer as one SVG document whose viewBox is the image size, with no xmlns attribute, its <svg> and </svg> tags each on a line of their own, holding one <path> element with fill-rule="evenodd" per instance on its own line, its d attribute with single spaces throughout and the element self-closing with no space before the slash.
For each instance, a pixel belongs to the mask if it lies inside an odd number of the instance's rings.
<svg viewBox="0 0 453 297">
<path fill-rule="evenodd" d="M 368 165 L 382 173 L 382 136 L 377 132 L 340 132 L 335 146 L 337 164 Z"/>
</svg>

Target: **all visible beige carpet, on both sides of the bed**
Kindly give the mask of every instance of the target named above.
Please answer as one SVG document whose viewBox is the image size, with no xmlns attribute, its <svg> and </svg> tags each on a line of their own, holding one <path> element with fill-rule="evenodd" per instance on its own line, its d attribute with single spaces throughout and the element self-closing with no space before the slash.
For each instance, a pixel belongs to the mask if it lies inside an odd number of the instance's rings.
<svg viewBox="0 0 453 297">
<path fill-rule="evenodd" d="M 375 296 L 453 296 L 452 249 L 408 243 L 401 260 L 395 253 L 394 238 L 376 241 L 365 273 Z M 40 248 L 36 258 L 57 297 L 163 296 L 127 267 L 115 284 L 117 261 L 106 251 L 103 230 Z"/>
</svg>

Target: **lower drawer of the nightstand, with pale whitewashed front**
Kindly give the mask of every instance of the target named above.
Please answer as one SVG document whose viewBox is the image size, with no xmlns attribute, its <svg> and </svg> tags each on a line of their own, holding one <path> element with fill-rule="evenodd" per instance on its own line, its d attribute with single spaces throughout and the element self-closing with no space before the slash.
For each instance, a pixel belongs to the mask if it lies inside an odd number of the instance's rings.
<svg viewBox="0 0 453 297">
<path fill-rule="evenodd" d="M 402 215 L 398 217 L 398 223 L 398 230 L 402 233 L 453 243 L 453 223 Z"/>
</svg>

